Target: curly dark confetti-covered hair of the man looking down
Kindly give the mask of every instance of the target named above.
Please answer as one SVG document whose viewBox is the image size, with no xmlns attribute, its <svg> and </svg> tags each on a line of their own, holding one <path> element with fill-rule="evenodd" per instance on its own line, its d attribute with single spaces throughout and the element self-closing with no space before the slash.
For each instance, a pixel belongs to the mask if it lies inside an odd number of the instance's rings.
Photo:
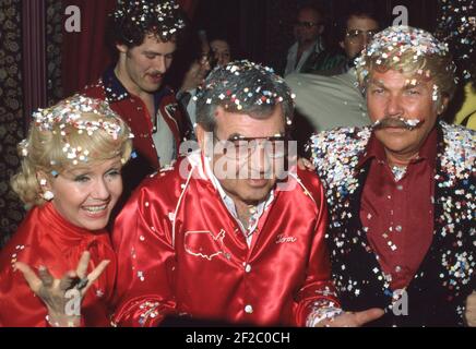
<svg viewBox="0 0 476 349">
<path fill-rule="evenodd" d="M 163 43 L 179 41 L 186 27 L 175 0 L 118 0 L 109 20 L 114 44 L 129 48 L 142 45 L 147 35 Z"/>
</svg>

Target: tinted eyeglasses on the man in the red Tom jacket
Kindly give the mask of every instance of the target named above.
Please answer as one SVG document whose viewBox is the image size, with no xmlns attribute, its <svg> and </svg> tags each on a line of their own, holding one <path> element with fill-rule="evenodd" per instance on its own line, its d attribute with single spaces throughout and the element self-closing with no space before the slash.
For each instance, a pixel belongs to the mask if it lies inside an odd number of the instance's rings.
<svg viewBox="0 0 476 349">
<path fill-rule="evenodd" d="M 237 135 L 228 140 L 219 140 L 216 135 L 213 136 L 223 146 L 223 155 L 233 160 L 246 160 L 258 148 L 264 149 L 264 153 L 272 159 L 281 159 L 288 154 L 289 137 L 287 135 L 271 137 L 245 137 Z"/>
</svg>

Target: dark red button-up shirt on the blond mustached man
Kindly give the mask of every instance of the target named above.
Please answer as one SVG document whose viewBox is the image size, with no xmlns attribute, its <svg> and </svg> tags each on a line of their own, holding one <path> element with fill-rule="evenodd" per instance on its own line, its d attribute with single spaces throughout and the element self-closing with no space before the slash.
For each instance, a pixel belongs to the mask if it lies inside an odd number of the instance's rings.
<svg viewBox="0 0 476 349">
<path fill-rule="evenodd" d="M 433 130 L 400 181 L 373 134 L 359 160 L 360 167 L 370 161 L 360 220 L 393 290 L 408 286 L 432 241 L 436 149 Z"/>
</svg>

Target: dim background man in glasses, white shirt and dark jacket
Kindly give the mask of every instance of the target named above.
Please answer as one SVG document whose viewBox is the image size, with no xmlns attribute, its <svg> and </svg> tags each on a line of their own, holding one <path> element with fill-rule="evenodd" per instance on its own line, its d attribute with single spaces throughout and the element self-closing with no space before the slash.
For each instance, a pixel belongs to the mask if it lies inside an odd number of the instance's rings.
<svg viewBox="0 0 476 349">
<path fill-rule="evenodd" d="M 284 76 L 300 72 L 309 57 L 323 50 L 321 40 L 323 32 L 322 10 L 313 5 L 301 8 L 294 26 L 296 43 L 288 50 Z"/>
</svg>

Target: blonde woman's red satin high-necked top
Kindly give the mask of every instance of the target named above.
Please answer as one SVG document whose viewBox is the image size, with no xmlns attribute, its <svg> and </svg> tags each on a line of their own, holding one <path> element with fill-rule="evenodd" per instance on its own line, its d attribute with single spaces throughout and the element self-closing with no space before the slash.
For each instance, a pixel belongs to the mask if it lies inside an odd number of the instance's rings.
<svg viewBox="0 0 476 349">
<path fill-rule="evenodd" d="M 29 289 L 15 262 L 28 264 L 35 272 L 47 266 L 61 278 L 74 270 L 84 251 L 91 252 L 88 273 L 103 260 L 106 270 L 87 290 L 82 303 L 83 325 L 109 326 L 110 300 L 116 277 L 116 256 L 106 230 L 92 232 L 63 219 L 51 203 L 33 208 L 12 240 L 0 252 L 0 327 L 46 327 L 47 308 Z"/>
</svg>

